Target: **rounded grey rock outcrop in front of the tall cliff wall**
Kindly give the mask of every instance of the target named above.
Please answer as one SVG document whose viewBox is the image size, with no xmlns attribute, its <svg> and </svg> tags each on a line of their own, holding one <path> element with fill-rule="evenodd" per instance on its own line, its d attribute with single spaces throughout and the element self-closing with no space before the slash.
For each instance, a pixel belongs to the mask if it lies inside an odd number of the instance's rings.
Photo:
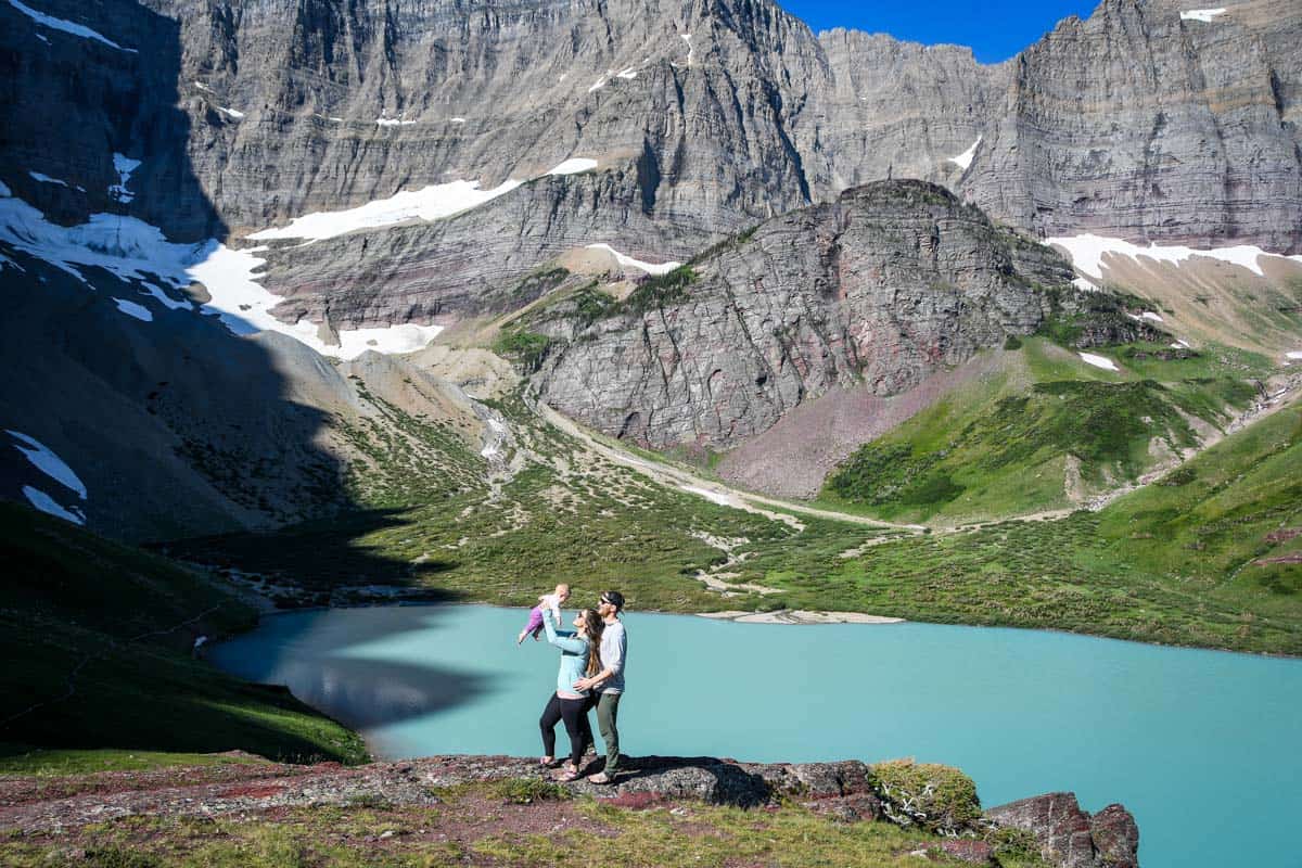
<svg viewBox="0 0 1302 868">
<path fill-rule="evenodd" d="M 874 394 L 1027 334 L 1070 293 L 1048 249 L 991 224 L 943 187 L 879 182 L 792 212 L 650 281 L 596 321 L 582 305 L 530 328 L 557 340 L 539 394 L 651 446 L 729 446 L 837 384 Z M 639 310 L 641 308 L 641 310 Z"/>
</svg>

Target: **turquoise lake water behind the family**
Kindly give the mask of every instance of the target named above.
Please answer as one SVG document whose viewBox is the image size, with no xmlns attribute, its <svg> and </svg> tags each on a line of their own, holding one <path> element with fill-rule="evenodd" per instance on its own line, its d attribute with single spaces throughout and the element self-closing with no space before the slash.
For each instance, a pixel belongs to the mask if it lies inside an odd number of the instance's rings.
<svg viewBox="0 0 1302 868">
<path fill-rule="evenodd" d="M 559 652 L 523 609 L 385 606 L 264 618 L 212 660 L 288 685 L 385 757 L 540 752 Z M 568 618 L 570 616 L 566 616 Z M 1027 630 L 738 625 L 629 614 L 629 753 L 913 756 L 982 803 L 1124 803 L 1144 868 L 1302 865 L 1302 661 Z M 594 721 L 595 729 L 595 721 Z M 557 727 L 564 751 L 564 727 Z"/>
</svg>

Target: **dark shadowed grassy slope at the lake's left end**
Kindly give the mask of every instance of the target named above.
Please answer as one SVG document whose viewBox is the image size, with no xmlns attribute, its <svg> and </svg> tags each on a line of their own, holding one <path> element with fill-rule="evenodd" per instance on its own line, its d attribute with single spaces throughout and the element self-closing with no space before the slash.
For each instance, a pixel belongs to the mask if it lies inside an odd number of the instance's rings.
<svg viewBox="0 0 1302 868">
<path fill-rule="evenodd" d="M 91 765 L 137 748 L 366 756 L 354 734 L 284 690 L 191 660 L 197 635 L 255 622 L 193 573 L 10 504 L 0 504 L 0 753 L 13 768 L 33 761 L 33 747 L 108 751 Z"/>
</svg>

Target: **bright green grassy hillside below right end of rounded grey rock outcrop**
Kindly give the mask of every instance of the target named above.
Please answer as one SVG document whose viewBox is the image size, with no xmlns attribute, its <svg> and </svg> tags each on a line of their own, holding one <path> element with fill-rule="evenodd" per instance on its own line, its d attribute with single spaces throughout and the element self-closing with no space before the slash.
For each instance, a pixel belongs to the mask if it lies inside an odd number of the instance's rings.
<svg viewBox="0 0 1302 868">
<path fill-rule="evenodd" d="M 1220 427 L 1256 394 L 1266 359 L 1213 347 L 1096 350 L 1118 372 L 1042 338 L 1006 354 L 1005 372 L 950 394 L 862 446 L 823 500 L 897 521 L 999 519 L 1072 506 L 1195 446 L 1190 419 Z M 1154 442 L 1160 444 L 1154 452 Z"/>
</svg>

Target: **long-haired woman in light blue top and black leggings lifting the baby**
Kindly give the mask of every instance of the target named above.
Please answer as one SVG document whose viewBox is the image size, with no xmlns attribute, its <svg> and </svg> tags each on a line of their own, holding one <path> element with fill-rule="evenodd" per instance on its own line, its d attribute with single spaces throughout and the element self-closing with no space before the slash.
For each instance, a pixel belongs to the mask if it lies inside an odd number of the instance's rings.
<svg viewBox="0 0 1302 868">
<path fill-rule="evenodd" d="M 547 700 L 547 708 L 538 720 L 538 726 L 543 731 L 544 755 L 539 760 L 543 765 L 551 766 L 556 761 L 556 722 L 565 721 L 565 731 L 570 737 L 570 759 L 565 764 L 557 781 L 574 781 L 578 778 L 579 763 L 583 761 L 583 751 L 592 743 L 592 727 L 587 722 L 589 694 L 587 690 L 574 690 L 574 682 L 579 678 L 590 678 L 602 670 L 602 660 L 598 649 L 602 645 L 602 631 L 605 623 L 595 609 L 583 609 L 574 618 L 575 632 L 557 632 L 552 618 L 543 617 L 543 629 L 547 631 L 547 642 L 561 649 L 561 666 L 556 674 L 556 692 Z"/>
</svg>

